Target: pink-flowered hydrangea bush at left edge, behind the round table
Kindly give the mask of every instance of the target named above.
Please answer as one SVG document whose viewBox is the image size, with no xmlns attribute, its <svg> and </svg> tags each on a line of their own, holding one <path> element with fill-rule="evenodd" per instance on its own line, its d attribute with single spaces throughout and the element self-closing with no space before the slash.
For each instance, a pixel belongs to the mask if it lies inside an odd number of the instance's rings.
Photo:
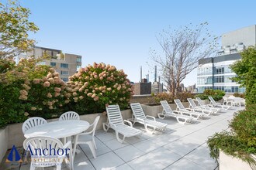
<svg viewBox="0 0 256 170">
<path fill-rule="evenodd" d="M 64 104 L 65 83 L 38 59 L 0 60 L 0 127 L 27 117 L 54 117 Z"/>
</svg>

